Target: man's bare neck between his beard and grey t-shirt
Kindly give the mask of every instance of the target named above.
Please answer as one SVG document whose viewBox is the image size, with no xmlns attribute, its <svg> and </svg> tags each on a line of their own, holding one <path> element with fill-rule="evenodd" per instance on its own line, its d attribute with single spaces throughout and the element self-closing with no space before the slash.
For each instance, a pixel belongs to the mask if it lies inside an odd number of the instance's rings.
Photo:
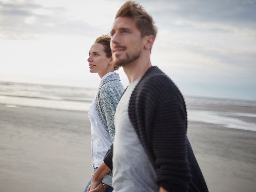
<svg viewBox="0 0 256 192">
<path fill-rule="evenodd" d="M 130 83 L 140 79 L 148 68 L 152 67 L 150 58 L 148 55 L 140 56 L 137 60 L 124 66 L 124 72 L 128 77 Z"/>
</svg>

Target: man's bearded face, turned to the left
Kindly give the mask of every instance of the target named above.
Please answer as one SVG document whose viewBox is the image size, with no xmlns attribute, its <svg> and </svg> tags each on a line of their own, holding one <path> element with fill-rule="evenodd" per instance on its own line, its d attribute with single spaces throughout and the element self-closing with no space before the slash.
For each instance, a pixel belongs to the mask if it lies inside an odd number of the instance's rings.
<svg viewBox="0 0 256 192">
<path fill-rule="evenodd" d="M 125 66 L 140 57 L 143 48 L 142 38 L 132 18 L 116 18 L 110 35 L 114 65 Z"/>
</svg>

